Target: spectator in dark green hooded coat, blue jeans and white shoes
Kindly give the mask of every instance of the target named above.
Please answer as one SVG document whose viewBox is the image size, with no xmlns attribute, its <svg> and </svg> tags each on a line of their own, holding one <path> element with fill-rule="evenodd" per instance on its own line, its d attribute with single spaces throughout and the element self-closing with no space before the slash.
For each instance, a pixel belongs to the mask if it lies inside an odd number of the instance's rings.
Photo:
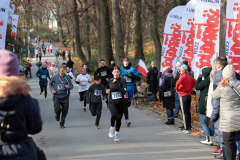
<svg viewBox="0 0 240 160">
<path fill-rule="evenodd" d="M 214 129 L 213 128 L 208 128 L 207 123 L 206 123 L 206 106 L 207 106 L 207 96 L 208 96 L 208 88 L 210 85 L 210 72 L 212 68 L 204 68 L 202 69 L 202 75 L 200 74 L 196 85 L 195 89 L 200 90 L 200 98 L 198 100 L 198 113 L 200 115 L 200 123 L 202 125 L 202 129 L 206 135 L 206 140 L 201 141 L 202 144 L 213 144 L 213 136 L 214 136 Z M 202 80 L 204 77 L 204 80 Z"/>
</svg>

